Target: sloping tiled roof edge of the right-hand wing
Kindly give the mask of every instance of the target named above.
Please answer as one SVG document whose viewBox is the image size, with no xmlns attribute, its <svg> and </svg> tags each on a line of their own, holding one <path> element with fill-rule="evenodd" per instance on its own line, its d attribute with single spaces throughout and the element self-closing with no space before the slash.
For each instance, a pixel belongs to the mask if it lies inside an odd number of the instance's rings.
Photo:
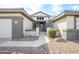
<svg viewBox="0 0 79 59">
<path fill-rule="evenodd" d="M 60 13 L 59 15 L 57 15 L 56 17 L 52 18 L 51 21 L 56 21 L 59 18 L 63 17 L 63 16 L 72 16 L 72 15 L 79 15 L 79 10 L 65 10 L 62 13 Z"/>
</svg>

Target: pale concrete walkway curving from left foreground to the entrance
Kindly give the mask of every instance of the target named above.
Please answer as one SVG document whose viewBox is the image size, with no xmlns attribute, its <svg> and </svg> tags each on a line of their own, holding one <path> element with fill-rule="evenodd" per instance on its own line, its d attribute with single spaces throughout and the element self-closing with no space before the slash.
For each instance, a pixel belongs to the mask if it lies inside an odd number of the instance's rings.
<svg viewBox="0 0 79 59">
<path fill-rule="evenodd" d="M 38 40 L 36 41 L 6 41 L 0 44 L 0 47 L 38 47 L 49 42 L 46 39 L 46 33 L 40 33 Z"/>
</svg>

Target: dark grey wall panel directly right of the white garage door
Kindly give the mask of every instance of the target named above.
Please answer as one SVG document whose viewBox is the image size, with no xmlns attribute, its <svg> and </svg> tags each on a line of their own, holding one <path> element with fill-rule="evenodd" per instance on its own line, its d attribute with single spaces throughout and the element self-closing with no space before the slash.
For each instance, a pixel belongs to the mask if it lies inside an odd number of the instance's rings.
<svg viewBox="0 0 79 59">
<path fill-rule="evenodd" d="M 12 20 L 12 39 L 19 39 L 23 37 L 23 20 Z"/>
</svg>

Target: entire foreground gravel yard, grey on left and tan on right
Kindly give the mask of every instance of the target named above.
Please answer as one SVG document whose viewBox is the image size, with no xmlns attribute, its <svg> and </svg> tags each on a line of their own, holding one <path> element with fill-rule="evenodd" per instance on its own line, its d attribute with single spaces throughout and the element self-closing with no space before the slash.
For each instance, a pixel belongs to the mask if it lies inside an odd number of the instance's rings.
<svg viewBox="0 0 79 59">
<path fill-rule="evenodd" d="M 63 54 L 63 53 L 79 53 L 79 43 L 67 42 L 54 42 L 50 40 L 49 43 L 39 47 L 0 47 L 2 51 L 9 51 L 11 53 L 17 52 L 23 54 Z"/>
</svg>

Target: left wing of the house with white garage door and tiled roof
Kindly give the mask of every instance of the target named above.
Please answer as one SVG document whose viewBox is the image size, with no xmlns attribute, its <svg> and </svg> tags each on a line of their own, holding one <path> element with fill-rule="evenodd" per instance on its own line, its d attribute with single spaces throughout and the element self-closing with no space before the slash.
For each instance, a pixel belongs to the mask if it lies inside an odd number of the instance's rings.
<svg viewBox="0 0 79 59">
<path fill-rule="evenodd" d="M 32 30 L 34 20 L 23 8 L 0 9 L 0 38 L 17 39 Z"/>
</svg>

